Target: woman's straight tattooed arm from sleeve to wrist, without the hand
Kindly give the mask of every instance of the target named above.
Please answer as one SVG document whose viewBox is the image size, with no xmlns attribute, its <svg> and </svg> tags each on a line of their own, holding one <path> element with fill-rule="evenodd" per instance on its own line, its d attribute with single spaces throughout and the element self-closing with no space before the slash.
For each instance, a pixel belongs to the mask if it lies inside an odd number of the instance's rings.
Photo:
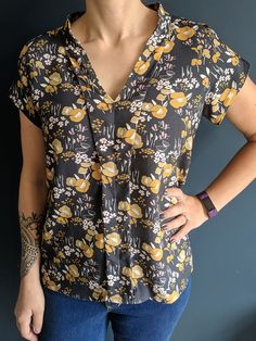
<svg viewBox="0 0 256 341">
<path fill-rule="evenodd" d="M 44 220 L 47 186 L 42 131 L 21 112 L 23 166 L 18 191 L 21 279 L 39 279 L 40 235 Z"/>
</svg>

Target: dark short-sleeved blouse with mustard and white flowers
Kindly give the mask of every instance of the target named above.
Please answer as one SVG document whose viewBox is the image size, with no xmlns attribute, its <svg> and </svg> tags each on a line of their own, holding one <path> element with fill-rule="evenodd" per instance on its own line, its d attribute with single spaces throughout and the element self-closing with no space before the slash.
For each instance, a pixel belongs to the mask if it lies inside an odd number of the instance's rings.
<svg viewBox="0 0 256 341">
<path fill-rule="evenodd" d="M 169 240 L 177 229 L 163 233 L 159 214 L 175 204 L 164 191 L 184 185 L 201 118 L 220 125 L 248 73 L 207 24 L 150 7 L 157 27 L 115 100 L 71 33 L 82 12 L 25 43 L 10 88 L 44 139 L 41 280 L 73 298 L 180 296 L 191 244 Z"/>
</svg>

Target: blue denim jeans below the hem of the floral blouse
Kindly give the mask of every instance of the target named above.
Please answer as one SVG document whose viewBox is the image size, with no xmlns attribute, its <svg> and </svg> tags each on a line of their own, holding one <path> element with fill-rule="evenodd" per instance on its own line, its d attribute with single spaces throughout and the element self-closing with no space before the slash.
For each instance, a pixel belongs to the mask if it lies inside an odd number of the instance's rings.
<svg viewBox="0 0 256 341">
<path fill-rule="evenodd" d="M 169 341 L 191 293 L 185 290 L 172 304 L 148 300 L 115 304 L 73 299 L 44 288 L 40 341 L 104 341 L 111 321 L 115 341 Z"/>
</svg>

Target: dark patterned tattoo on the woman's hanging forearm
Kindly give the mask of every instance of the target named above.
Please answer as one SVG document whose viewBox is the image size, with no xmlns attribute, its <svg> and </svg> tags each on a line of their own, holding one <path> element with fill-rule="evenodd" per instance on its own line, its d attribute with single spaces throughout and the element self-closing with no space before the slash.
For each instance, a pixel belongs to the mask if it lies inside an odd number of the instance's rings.
<svg viewBox="0 0 256 341">
<path fill-rule="evenodd" d="M 27 275 L 28 270 L 36 262 L 40 250 L 41 227 L 44 219 L 44 213 L 31 213 L 25 216 L 23 212 L 18 213 L 22 240 L 21 258 L 21 278 Z"/>
</svg>

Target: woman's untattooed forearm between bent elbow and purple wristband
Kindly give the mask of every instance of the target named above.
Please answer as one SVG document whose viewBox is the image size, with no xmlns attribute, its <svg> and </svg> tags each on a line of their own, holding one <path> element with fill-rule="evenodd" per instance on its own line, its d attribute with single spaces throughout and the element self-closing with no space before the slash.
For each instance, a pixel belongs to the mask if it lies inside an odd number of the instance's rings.
<svg viewBox="0 0 256 341">
<path fill-rule="evenodd" d="M 256 141 L 247 141 L 206 188 L 220 211 L 256 178 Z"/>
</svg>

